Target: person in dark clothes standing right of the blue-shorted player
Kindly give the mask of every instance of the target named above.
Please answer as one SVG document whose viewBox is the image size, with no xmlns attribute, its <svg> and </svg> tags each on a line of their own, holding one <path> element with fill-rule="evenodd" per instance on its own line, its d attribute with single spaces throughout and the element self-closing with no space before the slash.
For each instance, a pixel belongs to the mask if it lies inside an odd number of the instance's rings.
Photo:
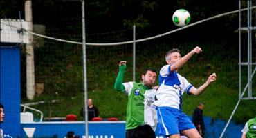
<svg viewBox="0 0 256 138">
<path fill-rule="evenodd" d="M 196 129 L 198 130 L 199 134 L 203 137 L 205 135 L 205 124 L 203 121 L 203 103 L 199 103 L 199 106 L 194 109 L 192 122 Z"/>
</svg>

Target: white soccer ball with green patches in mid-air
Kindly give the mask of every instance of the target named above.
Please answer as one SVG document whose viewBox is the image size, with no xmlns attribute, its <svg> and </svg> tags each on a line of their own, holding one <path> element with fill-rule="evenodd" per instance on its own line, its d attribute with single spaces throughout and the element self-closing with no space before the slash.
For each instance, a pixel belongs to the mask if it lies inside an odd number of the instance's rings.
<svg viewBox="0 0 256 138">
<path fill-rule="evenodd" d="M 172 15 L 172 21 L 176 26 L 186 26 L 190 23 L 190 12 L 185 9 L 176 10 Z"/>
</svg>

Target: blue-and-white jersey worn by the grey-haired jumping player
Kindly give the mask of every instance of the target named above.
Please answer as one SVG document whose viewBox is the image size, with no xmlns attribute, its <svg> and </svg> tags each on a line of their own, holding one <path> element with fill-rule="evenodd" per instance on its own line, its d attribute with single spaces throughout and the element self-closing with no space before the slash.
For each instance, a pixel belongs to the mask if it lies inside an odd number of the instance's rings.
<svg viewBox="0 0 256 138">
<path fill-rule="evenodd" d="M 192 84 L 177 72 L 170 70 L 171 65 L 165 65 L 159 73 L 159 88 L 156 92 L 154 106 L 168 106 L 181 110 L 183 92 L 188 94 Z"/>
</svg>

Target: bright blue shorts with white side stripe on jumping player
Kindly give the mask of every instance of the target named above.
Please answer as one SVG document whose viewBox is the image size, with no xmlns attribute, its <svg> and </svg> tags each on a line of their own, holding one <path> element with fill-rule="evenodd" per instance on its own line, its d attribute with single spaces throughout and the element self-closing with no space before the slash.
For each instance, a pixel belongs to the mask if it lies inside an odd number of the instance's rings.
<svg viewBox="0 0 256 138">
<path fill-rule="evenodd" d="M 176 108 L 158 107 L 157 115 L 161 135 L 180 134 L 183 130 L 195 128 L 190 118 Z"/>
</svg>

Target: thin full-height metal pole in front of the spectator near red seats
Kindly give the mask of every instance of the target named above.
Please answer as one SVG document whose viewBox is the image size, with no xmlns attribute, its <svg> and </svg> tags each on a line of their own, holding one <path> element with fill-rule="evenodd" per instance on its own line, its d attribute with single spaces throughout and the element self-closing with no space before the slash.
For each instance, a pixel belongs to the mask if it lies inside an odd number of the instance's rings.
<svg viewBox="0 0 256 138">
<path fill-rule="evenodd" d="M 88 138 L 88 110 L 87 110 L 87 74 L 86 74 L 86 39 L 85 39 L 85 21 L 84 21 L 84 0 L 82 0 L 82 55 L 84 68 L 84 119 L 85 135 Z"/>
</svg>

